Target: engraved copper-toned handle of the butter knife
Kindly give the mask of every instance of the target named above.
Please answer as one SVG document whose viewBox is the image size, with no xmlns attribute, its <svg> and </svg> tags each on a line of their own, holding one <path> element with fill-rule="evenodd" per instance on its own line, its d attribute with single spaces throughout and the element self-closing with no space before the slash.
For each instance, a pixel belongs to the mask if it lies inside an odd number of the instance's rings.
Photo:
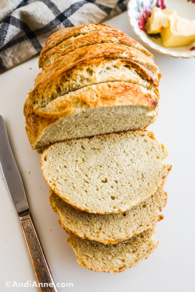
<svg viewBox="0 0 195 292">
<path fill-rule="evenodd" d="M 40 291 L 58 292 L 29 210 L 26 210 L 26 212 L 21 215 L 19 214 L 19 219 L 37 282 L 42 283 L 39 284 Z"/>
</svg>

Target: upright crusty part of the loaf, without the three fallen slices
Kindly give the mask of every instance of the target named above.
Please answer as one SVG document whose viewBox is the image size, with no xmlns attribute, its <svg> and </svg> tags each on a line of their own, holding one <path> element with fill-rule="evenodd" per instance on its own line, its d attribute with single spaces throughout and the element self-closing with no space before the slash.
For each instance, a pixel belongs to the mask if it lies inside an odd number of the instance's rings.
<svg viewBox="0 0 195 292">
<path fill-rule="evenodd" d="M 158 114 L 161 79 L 137 41 L 102 24 L 51 35 L 24 105 L 26 131 L 42 152 L 61 140 L 145 128 Z"/>
</svg>

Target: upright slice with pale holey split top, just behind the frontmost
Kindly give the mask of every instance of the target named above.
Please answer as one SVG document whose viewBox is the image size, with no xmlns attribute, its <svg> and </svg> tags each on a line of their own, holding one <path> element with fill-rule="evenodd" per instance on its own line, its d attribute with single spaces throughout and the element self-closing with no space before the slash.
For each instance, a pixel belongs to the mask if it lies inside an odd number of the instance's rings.
<svg viewBox="0 0 195 292">
<path fill-rule="evenodd" d="M 29 93 L 24 105 L 25 117 L 34 109 L 69 91 L 108 81 L 128 81 L 146 88 L 158 88 L 152 73 L 129 59 L 104 56 L 70 64 L 50 74 Z"/>
</svg>

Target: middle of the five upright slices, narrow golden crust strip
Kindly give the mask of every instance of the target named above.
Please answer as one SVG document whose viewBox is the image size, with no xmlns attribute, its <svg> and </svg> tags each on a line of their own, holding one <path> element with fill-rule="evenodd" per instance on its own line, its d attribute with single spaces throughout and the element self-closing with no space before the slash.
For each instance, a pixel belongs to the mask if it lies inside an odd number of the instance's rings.
<svg viewBox="0 0 195 292">
<path fill-rule="evenodd" d="M 139 63 L 140 65 L 146 67 L 146 69 L 151 71 L 157 81 L 161 76 L 161 74 L 159 74 L 159 69 L 154 64 L 153 60 L 141 51 L 125 45 L 103 43 L 77 48 L 74 51 L 61 56 L 60 58 L 55 60 L 55 62 L 46 65 L 43 71 L 40 72 L 35 79 L 35 86 L 46 77 L 48 77 L 50 74 L 62 69 L 65 66 L 68 66 L 71 63 L 75 63 L 78 60 L 83 60 L 87 58 L 101 57 L 103 55 L 114 55 L 117 58 L 126 58 L 133 60 L 134 62 Z"/>
</svg>

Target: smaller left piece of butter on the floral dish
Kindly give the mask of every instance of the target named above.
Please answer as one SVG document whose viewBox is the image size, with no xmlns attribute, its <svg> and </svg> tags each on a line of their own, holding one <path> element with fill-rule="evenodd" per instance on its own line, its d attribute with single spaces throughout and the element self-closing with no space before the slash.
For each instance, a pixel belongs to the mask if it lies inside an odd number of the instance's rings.
<svg viewBox="0 0 195 292">
<path fill-rule="evenodd" d="M 146 30 L 149 34 L 158 34 L 162 30 L 162 25 L 168 26 L 168 15 L 178 14 L 178 11 L 175 9 L 161 9 L 154 7 L 152 9 L 151 16 L 148 18 L 146 24 Z"/>
</svg>

